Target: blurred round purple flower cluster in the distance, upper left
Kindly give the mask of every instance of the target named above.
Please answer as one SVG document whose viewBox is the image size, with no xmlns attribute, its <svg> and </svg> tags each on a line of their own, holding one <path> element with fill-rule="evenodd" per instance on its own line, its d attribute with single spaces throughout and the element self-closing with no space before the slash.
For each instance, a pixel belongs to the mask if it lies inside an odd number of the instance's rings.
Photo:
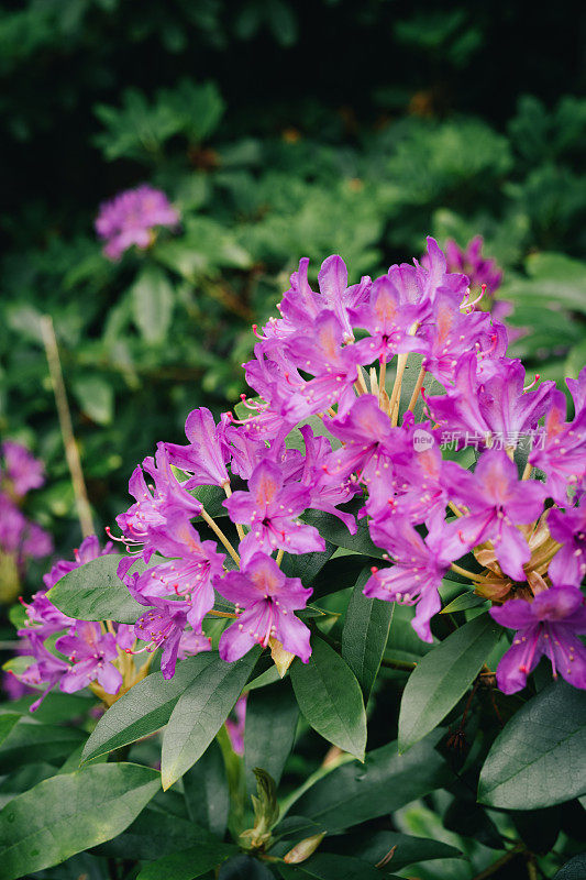
<svg viewBox="0 0 586 880">
<path fill-rule="evenodd" d="M 179 223 L 179 213 L 161 189 L 143 184 L 126 189 L 100 207 L 96 219 L 96 232 L 106 241 L 104 255 L 120 260 L 133 244 L 141 250 L 154 241 L 156 227 L 174 228 Z"/>
</svg>

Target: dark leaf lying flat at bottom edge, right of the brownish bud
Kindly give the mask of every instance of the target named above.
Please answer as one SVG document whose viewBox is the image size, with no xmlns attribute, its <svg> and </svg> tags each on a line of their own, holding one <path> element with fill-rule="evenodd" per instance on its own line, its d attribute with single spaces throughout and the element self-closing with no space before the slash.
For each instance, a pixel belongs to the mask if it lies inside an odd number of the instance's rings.
<svg viewBox="0 0 586 880">
<path fill-rule="evenodd" d="M 369 865 L 377 865 L 396 847 L 388 869 L 400 871 L 407 865 L 431 859 L 458 859 L 462 853 L 441 840 L 427 837 L 413 837 L 399 832 L 372 831 L 345 834 L 343 837 L 330 838 L 332 849 L 342 855 L 352 855 Z M 386 871 L 386 869 L 384 869 Z"/>
</svg>

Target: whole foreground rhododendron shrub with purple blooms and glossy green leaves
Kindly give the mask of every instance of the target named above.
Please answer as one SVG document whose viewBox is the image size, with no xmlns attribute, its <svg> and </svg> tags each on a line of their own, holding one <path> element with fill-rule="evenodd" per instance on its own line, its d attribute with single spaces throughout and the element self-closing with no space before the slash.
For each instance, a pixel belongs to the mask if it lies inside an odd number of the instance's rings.
<svg viewBox="0 0 586 880">
<path fill-rule="evenodd" d="M 235 410 L 190 413 L 25 605 L 38 695 L 5 741 L 59 692 L 103 714 L 0 814 L 9 880 L 91 847 L 142 880 L 553 877 L 586 792 L 586 369 L 526 376 L 479 242 L 447 257 L 350 284 L 334 255 L 317 285 L 301 260 Z M 41 810 L 114 791 L 63 844 Z M 407 834 L 421 799 L 450 845 Z"/>
</svg>

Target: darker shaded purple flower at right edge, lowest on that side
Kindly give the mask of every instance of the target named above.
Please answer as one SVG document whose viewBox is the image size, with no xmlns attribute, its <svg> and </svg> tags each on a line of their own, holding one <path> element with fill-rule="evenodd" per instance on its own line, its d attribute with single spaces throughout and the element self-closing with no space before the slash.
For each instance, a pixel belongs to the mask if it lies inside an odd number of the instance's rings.
<svg viewBox="0 0 586 880">
<path fill-rule="evenodd" d="M 497 669 L 504 693 L 522 690 L 541 657 L 551 660 L 554 678 L 560 673 L 570 684 L 586 689 L 586 648 L 577 637 L 586 632 L 586 602 L 579 590 L 553 587 L 533 602 L 513 598 L 490 608 L 490 615 L 517 630 Z"/>
</svg>

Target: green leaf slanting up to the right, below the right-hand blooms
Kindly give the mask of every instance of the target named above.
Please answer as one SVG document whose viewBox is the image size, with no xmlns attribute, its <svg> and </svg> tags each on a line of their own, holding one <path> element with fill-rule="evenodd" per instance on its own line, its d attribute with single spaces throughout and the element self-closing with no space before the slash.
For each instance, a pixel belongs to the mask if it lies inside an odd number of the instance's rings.
<svg viewBox="0 0 586 880">
<path fill-rule="evenodd" d="M 423 657 L 409 676 L 399 712 L 399 751 L 440 724 L 465 694 L 499 640 L 488 614 L 475 617 Z"/>
</svg>

